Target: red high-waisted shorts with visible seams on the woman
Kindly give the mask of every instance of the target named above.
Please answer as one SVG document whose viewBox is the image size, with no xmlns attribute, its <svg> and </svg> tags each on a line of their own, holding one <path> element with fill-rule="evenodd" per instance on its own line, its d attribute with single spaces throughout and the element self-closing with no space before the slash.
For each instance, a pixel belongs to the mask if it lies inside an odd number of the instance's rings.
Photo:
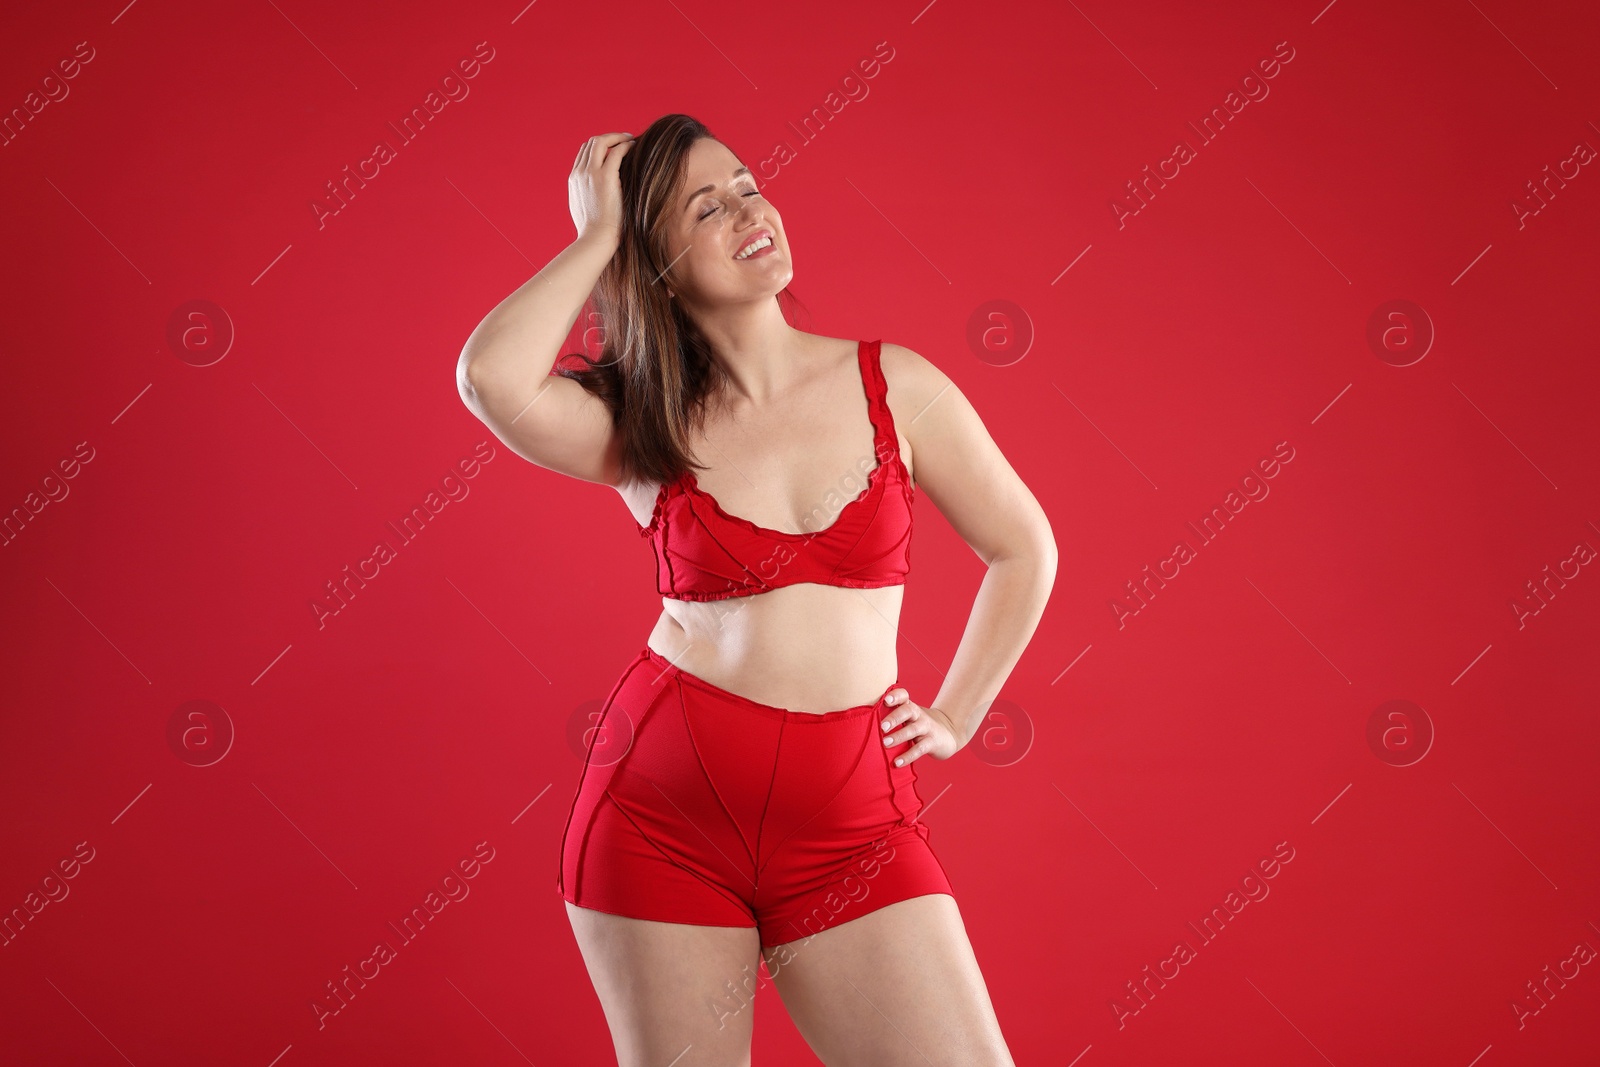
<svg viewBox="0 0 1600 1067">
<path fill-rule="evenodd" d="M 910 742 L 883 744 L 888 710 L 882 696 L 824 713 L 758 704 L 646 646 L 590 733 L 562 833 L 562 897 L 754 926 L 766 949 L 952 893 L 918 821 L 917 765 L 894 766 Z"/>
</svg>

